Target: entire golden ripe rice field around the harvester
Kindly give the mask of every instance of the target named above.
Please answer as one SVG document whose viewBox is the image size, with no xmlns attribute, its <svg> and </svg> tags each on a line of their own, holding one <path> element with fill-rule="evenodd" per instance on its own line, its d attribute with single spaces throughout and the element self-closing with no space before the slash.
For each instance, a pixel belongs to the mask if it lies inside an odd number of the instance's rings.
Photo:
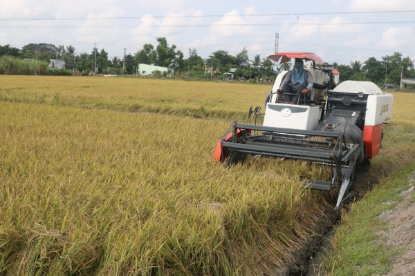
<svg viewBox="0 0 415 276">
<path fill-rule="evenodd" d="M 299 181 L 324 173 L 305 162 L 214 161 L 216 141 L 268 86 L 0 81 L 0 275 L 270 273 L 329 206 Z M 415 95 L 394 97 L 379 171 L 414 152 Z M 135 104 L 142 112 L 120 112 Z M 183 112 L 200 106 L 210 119 Z"/>
</svg>

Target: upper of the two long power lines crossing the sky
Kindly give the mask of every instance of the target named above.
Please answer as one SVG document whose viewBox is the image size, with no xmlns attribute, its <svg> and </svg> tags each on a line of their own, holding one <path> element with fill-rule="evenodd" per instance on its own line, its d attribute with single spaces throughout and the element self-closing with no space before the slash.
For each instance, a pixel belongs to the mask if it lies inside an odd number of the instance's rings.
<svg viewBox="0 0 415 276">
<path fill-rule="evenodd" d="M 146 18 L 212 18 L 212 17 L 275 17 L 275 16 L 299 16 L 299 15 L 327 15 L 327 14 L 391 14 L 410 13 L 415 10 L 387 10 L 372 12 L 297 12 L 297 13 L 266 13 L 266 14 L 206 14 L 206 15 L 166 15 L 166 16 L 142 16 L 142 17 L 68 17 L 68 18 L 6 18 L 0 21 L 66 21 L 66 20 L 109 20 L 109 19 L 146 19 Z"/>
</svg>

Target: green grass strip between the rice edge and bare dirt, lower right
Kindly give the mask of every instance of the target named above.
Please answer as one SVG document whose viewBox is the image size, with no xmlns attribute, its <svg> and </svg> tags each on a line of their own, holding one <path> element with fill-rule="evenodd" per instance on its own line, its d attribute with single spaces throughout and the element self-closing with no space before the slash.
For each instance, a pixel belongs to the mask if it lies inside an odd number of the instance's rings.
<svg viewBox="0 0 415 276">
<path fill-rule="evenodd" d="M 378 232 L 387 229 L 388 225 L 378 215 L 394 208 L 403 199 L 399 193 L 409 188 L 407 177 L 414 170 L 415 164 L 411 164 L 394 172 L 343 213 L 342 223 L 332 239 L 334 250 L 325 262 L 327 275 L 387 273 L 391 260 L 405 252 L 405 248 L 388 248 L 380 239 Z M 393 203 L 382 204 L 385 201 Z"/>
</svg>

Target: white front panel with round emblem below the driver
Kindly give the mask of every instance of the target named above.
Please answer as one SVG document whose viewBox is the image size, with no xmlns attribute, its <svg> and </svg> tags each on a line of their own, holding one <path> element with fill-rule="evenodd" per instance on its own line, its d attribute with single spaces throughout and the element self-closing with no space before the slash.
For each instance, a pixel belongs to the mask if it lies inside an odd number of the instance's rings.
<svg viewBox="0 0 415 276">
<path fill-rule="evenodd" d="M 295 106 L 284 103 L 268 103 L 263 126 L 315 130 L 320 108 L 317 106 Z"/>
</svg>

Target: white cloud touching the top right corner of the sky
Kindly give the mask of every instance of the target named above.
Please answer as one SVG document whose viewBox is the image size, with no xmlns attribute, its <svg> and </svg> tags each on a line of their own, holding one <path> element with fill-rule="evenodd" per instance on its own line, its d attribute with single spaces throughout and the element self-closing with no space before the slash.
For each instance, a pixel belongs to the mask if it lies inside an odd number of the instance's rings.
<svg viewBox="0 0 415 276">
<path fill-rule="evenodd" d="M 414 0 L 351 0 L 350 8 L 356 11 L 412 10 Z"/>
</svg>

